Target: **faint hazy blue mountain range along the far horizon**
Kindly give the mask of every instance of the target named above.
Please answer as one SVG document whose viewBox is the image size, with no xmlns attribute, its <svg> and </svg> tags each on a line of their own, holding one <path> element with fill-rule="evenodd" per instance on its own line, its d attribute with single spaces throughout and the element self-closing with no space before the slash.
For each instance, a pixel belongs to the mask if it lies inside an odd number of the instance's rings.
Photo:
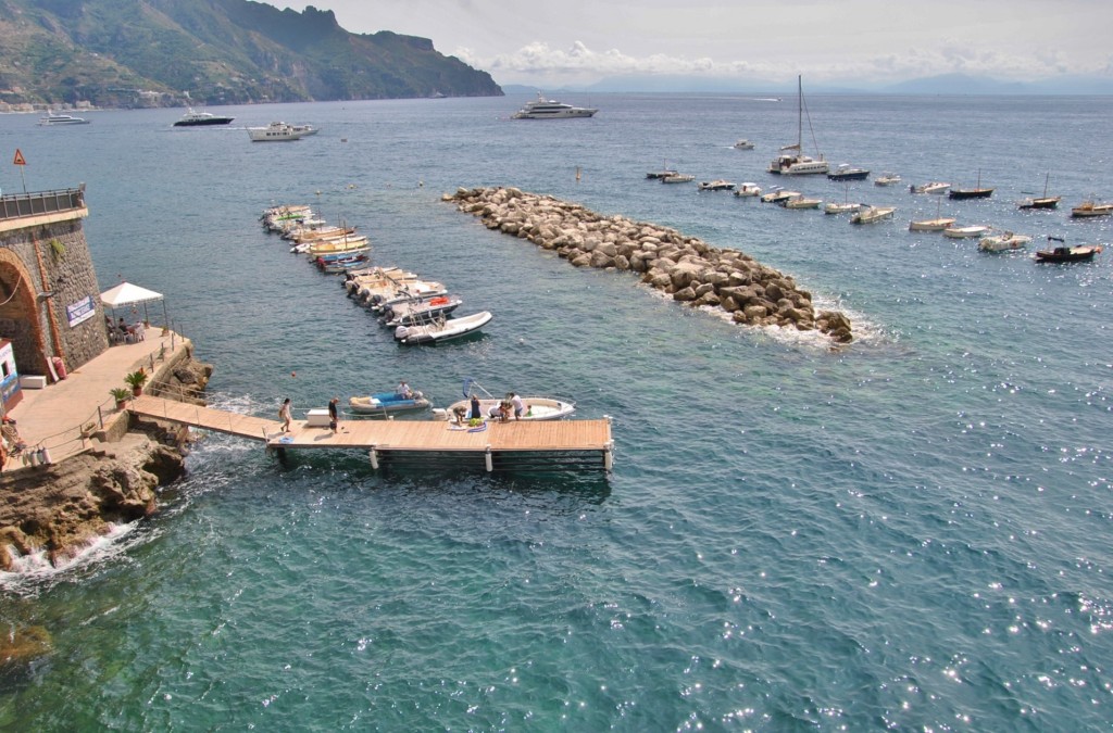
<svg viewBox="0 0 1113 733">
<path fill-rule="evenodd" d="M 856 80 L 821 83 L 809 81 L 805 76 L 804 86 L 809 95 L 1113 95 L 1113 78 L 1075 76 L 1048 77 L 1020 82 L 948 73 L 912 79 L 899 83 L 871 83 Z M 544 85 L 539 87 L 514 85 L 512 88 L 515 91 L 546 89 Z M 509 90 L 511 87 L 508 86 L 504 89 Z M 631 75 L 607 77 L 591 85 L 570 86 L 568 89 L 580 92 L 757 93 L 784 97 L 796 93 L 796 80 L 784 82 L 752 78 Z"/>
</svg>

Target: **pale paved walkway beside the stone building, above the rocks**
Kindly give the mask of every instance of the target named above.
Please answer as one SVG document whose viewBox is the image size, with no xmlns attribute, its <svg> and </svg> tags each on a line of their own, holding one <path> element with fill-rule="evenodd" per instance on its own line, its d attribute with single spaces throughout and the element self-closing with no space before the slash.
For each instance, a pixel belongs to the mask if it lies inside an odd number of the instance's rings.
<svg viewBox="0 0 1113 733">
<path fill-rule="evenodd" d="M 120 415 L 109 394 L 112 387 L 127 387 L 124 376 L 142 367 L 151 379 L 171 356 L 193 343 L 173 333 L 166 336 L 156 328 L 147 329 L 147 338 L 137 344 L 110 346 L 104 354 L 69 373 L 66 379 L 47 385 L 46 389 L 23 389 L 23 398 L 8 412 L 17 422 L 20 437 L 31 448 L 46 447 L 50 459 L 58 463 L 89 445 L 82 439 L 83 428 L 100 430 Z M 154 373 L 154 374 L 152 374 Z M 149 383 L 148 383 L 149 384 Z M 9 458 L 6 469 L 22 467 L 18 458 Z"/>
</svg>

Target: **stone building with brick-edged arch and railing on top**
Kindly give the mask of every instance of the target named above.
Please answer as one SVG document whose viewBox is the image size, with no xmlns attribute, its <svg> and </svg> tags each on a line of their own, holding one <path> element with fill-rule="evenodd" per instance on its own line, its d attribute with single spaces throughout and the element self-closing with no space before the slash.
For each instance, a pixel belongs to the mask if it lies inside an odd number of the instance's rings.
<svg viewBox="0 0 1113 733">
<path fill-rule="evenodd" d="M 0 197 L 0 339 L 19 374 L 76 369 L 109 346 L 81 220 L 85 185 Z"/>
</svg>

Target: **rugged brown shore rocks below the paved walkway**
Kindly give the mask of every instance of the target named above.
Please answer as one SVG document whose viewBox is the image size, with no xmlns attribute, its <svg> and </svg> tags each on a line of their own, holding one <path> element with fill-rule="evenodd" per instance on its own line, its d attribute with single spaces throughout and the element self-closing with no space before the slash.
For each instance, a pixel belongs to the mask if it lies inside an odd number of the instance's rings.
<svg viewBox="0 0 1113 733">
<path fill-rule="evenodd" d="M 151 392 L 204 404 L 213 367 L 193 358 L 169 367 Z M 114 524 L 150 516 L 157 488 L 185 473 L 188 429 L 138 420 L 128 413 L 91 438 L 91 447 L 58 464 L 4 473 L 0 495 L 0 569 L 45 552 L 52 565 L 80 554 Z"/>
</svg>

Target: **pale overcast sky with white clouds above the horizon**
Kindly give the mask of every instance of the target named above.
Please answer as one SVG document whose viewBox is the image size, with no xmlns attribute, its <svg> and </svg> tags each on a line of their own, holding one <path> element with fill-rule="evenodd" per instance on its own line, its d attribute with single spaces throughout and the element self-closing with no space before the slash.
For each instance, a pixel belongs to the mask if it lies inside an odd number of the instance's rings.
<svg viewBox="0 0 1113 733">
<path fill-rule="evenodd" d="M 619 76 L 877 85 L 1113 76 L 1113 0 L 316 0 L 345 30 L 433 41 L 500 85 Z"/>
</svg>

